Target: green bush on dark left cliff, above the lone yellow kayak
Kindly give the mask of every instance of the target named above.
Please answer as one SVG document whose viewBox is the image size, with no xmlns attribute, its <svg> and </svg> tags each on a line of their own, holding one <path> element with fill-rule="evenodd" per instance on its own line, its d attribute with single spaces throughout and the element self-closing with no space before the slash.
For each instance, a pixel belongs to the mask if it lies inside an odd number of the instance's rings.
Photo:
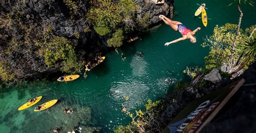
<svg viewBox="0 0 256 133">
<path fill-rule="evenodd" d="M 78 64 L 77 55 L 68 39 L 49 35 L 44 36 L 44 41 L 36 41 L 39 47 L 38 54 L 45 58 L 45 64 L 53 67 L 60 63 L 60 70 L 67 73 L 79 72 L 82 64 Z"/>
</svg>

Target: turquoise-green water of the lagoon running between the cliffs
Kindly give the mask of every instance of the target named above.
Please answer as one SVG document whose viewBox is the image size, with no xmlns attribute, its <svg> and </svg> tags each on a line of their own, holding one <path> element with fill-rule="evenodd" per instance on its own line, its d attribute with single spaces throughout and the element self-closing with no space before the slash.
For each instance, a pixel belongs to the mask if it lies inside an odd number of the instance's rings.
<svg viewBox="0 0 256 133">
<path fill-rule="evenodd" d="M 208 8 L 208 26 L 203 27 L 201 19 L 193 17 L 198 8 L 196 3 L 206 3 Z M 169 26 L 161 23 L 139 39 L 126 43 L 115 51 L 106 54 L 106 60 L 88 72 L 86 79 L 60 83 L 52 80 L 36 80 L 23 85 L 4 89 L 0 93 L 0 130 L 1 132 L 51 132 L 62 127 L 62 131 L 81 125 L 83 132 L 100 130 L 109 132 L 119 124 L 127 124 L 130 119 L 121 112 L 124 105 L 133 111 L 143 108 L 147 99 L 153 101 L 164 97 L 172 84 L 164 82 L 168 77 L 174 80 L 189 80 L 183 70 L 186 66 L 204 67 L 207 48 L 200 44 L 203 38 L 212 34 L 215 25 L 237 23 L 239 14 L 236 6 L 227 6 L 232 1 L 187 1 L 179 0 L 175 4 L 174 20 L 179 20 L 191 30 L 201 27 L 196 34 L 197 43 L 189 40 L 164 46 L 167 41 L 181 37 Z M 242 4 L 244 17 L 241 27 L 255 24 L 256 10 Z M 144 57 L 138 57 L 143 51 Z M 123 61 L 120 53 L 125 53 Z M 56 76 L 57 78 L 58 76 Z M 110 94 L 110 90 L 115 93 Z M 33 112 L 33 107 L 18 111 L 17 108 L 27 99 L 43 95 L 38 104 L 51 99 L 59 99 L 57 105 L 47 112 Z M 129 96 L 129 100 L 124 100 Z M 37 105 L 38 105 L 37 104 Z M 73 108 L 74 113 L 65 115 L 63 108 Z"/>
</svg>

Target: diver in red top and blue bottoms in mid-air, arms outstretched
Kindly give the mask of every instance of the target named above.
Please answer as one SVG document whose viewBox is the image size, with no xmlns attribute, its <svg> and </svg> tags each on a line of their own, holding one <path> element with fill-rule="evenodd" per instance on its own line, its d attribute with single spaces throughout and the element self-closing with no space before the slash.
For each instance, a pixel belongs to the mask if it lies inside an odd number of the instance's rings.
<svg viewBox="0 0 256 133">
<path fill-rule="evenodd" d="M 177 31 L 177 32 L 180 32 L 181 35 L 183 35 L 182 38 L 179 38 L 179 39 L 176 39 L 176 40 L 173 40 L 171 42 L 166 42 L 165 43 L 165 46 L 168 46 L 170 45 L 171 43 L 176 43 L 178 41 L 182 41 L 182 40 L 186 40 L 186 39 L 190 39 L 190 41 L 192 43 L 195 43 L 197 42 L 197 39 L 196 39 L 196 36 L 193 36 L 194 34 L 196 34 L 196 32 L 198 30 L 200 30 L 201 28 L 198 27 L 197 29 L 195 29 L 193 32 L 190 31 L 190 29 L 188 29 L 185 25 L 183 25 L 182 23 L 180 23 L 179 21 L 173 21 L 163 15 L 160 15 L 159 16 L 160 19 L 162 19 L 164 21 L 164 23 L 166 25 L 170 25 L 172 27 L 172 29 L 174 29 L 174 31 Z"/>
</svg>

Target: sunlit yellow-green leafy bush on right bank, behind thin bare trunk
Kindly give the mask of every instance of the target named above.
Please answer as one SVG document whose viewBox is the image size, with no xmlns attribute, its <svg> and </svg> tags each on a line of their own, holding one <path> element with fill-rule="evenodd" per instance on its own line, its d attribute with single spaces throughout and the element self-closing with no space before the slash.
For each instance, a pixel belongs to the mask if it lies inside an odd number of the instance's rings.
<svg viewBox="0 0 256 133">
<path fill-rule="evenodd" d="M 253 29 L 252 27 L 250 29 Z M 224 26 L 217 25 L 210 38 L 207 38 L 202 44 L 203 47 L 210 47 L 210 53 L 205 57 L 207 70 L 214 68 L 220 69 L 220 67 L 224 65 L 230 66 L 230 64 L 232 64 L 232 43 L 235 39 L 236 28 L 237 25 L 235 24 L 225 24 Z M 246 31 L 247 33 L 240 29 L 238 39 L 235 41 L 237 44 L 233 51 L 233 58 L 235 62 L 238 62 L 239 58 L 242 57 L 241 53 L 244 50 L 242 47 L 245 46 L 244 41 L 249 40 L 250 33 L 252 32 L 249 29 L 246 29 Z M 253 58 L 250 58 L 250 61 L 247 62 L 246 66 L 248 66 L 253 60 Z"/>
</svg>

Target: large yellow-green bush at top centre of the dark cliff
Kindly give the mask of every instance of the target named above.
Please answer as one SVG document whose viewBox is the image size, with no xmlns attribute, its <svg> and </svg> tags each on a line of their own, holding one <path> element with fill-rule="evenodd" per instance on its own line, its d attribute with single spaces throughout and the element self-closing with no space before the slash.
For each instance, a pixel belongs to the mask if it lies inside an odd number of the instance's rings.
<svg viewBox="0 0 256 133">
<path fill-rule="evenodd" d="M 124 33 L 133 31 L 135 26 L 134 14 L 139 6 L 132 0 L 122 0 L 118 3 L 101 1 L 92 3 L 87 13 L 87 20 L 96 33 L 109 36 L 109 47 L 119 47 L 124 40 Z M 121 27 L 121 28 L 120 28 Z M 112 38 L 111 38 L 112 36 Z"/>
</svg>

